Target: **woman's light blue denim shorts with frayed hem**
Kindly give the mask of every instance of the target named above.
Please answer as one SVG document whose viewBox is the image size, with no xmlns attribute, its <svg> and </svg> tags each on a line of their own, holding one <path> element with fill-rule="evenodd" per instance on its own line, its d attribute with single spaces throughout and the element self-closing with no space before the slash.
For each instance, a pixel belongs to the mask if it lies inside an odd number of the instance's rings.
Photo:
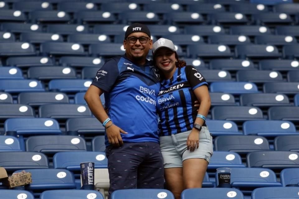
<svg viewBox="0 0 299 199">
<path fill-rule="evenodd" d="M 202 127 L 199 133 L 199 147 L 192 152 L 187 150 L 186 145 L 190 132 L 160 136 L 164 168 L 183 167 L 183 161 L 191 158 L 201 158 L 210 162 L 210 158 L 213 155 L 213 141 L 208 127 Z"/>
</svg>

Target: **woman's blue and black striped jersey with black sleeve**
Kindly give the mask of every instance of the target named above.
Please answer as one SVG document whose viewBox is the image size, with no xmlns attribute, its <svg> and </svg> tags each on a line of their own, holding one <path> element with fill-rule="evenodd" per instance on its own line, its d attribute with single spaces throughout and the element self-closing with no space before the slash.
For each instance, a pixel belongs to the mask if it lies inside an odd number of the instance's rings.
<svg viewBox="0 0 299 199">
<path fill-rule="evenodd" d="M 189 131 L 197 115 L 197 100 L 193 90 L 208 85 L 205 78 L 193 67 L 178 68 L 169 80 L 161 82 L 157 97 L 159 135 L 167 136 Z"/>
</svg>

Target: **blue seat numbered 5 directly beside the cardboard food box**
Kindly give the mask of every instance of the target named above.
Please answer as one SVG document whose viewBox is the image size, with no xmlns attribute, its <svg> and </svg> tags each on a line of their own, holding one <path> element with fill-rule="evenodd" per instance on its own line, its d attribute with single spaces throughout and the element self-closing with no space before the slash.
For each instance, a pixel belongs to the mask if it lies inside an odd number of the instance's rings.
<svg viewBox="0 0 299 199">
<path fill-rule="evenodd" d="M 24 187 L 39 197 L 41 192 L 51 189 L 75 189 L 74 174 L 67 169 L 26 169 L 31 173 L 32 183 Z M 21 170 L 14 173 L 21 172 Z"/>
</svg>

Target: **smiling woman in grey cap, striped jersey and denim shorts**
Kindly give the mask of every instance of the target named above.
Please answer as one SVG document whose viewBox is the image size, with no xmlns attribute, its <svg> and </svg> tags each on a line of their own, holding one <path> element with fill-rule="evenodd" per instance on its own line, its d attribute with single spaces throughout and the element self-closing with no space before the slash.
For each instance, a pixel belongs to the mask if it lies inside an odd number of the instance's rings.
<svg viewBox="0 0 299 199">
<path fill-rule="evenodd" d="M 179 199 L 184 189 L 202 187 L 213 153 L 205 124 L 211 106 L 208 84 L 194 67 L 178 59 L 171 40 L 157 40 L 152 50 L 162 76 L 156 104 L 165 180 Z M 194 106 L 196 100 L 199 109 Z"/>
</svg>

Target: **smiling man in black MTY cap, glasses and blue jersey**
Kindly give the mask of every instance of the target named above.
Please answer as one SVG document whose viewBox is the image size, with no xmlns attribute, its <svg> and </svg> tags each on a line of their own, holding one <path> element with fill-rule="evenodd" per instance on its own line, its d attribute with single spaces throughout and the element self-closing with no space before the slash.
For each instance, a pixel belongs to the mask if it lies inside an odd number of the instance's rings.
<svg viewBox="0 0 299 199">
<path fill-rule="evenodd" d="M 123 42 L 126 54 L 109 59 L 84 99 L 106 128 L 110 194 L 117 189 L 164 188 L 156 97 L 159 75 L 146 59 L 153 41 L 146 25 L 132 24 Z M 105 93 L 106 114 L 100 95 Z"/>
</svg>

